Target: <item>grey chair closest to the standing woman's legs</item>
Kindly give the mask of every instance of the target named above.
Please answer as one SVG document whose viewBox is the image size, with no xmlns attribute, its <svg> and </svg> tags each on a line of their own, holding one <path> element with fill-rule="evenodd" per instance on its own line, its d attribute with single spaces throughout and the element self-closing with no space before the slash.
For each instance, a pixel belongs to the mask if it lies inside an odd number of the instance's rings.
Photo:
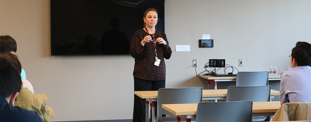
<svg viewBox="0 0 311 122">
<path fill-rule="evenodd" d="M 160 88 L 158 91 L 158 122 L 162 122 L 162 115 L 176 116 L 164 110 L 162 104 L 187 104 L 202 102 L 202 88 Z"/>
</svg>

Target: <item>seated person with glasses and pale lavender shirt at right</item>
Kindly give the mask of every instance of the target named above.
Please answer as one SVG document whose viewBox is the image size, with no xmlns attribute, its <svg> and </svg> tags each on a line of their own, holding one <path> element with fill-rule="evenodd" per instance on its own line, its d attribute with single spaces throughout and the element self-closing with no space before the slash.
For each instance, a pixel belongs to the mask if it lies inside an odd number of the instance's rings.
<svg viewBox="0 0 311 122">
<path fill-rule="evenodd" d="M 311 45 L 297 42 L 289 57 L 292 68 L 281 75 L 281 105 L 287 102 L 311 102 Z"/>
</svg>

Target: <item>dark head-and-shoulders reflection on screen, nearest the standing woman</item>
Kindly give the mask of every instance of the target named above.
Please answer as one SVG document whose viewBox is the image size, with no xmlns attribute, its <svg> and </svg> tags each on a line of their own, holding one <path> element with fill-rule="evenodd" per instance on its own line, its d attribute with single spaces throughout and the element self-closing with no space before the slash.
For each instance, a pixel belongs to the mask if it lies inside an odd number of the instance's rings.
<svg viewBox="0 0 311 122">
<path fill-rule="evenodd" d="M 130 53 L 130 43 L 128 41 L 128 36 L 118 31 L 120 26 L 120 20 L 115 17 L 110 22 L 111 30 L 104 32 L 100 49 L 102 54 L 129 54 Z"/>
</svg>

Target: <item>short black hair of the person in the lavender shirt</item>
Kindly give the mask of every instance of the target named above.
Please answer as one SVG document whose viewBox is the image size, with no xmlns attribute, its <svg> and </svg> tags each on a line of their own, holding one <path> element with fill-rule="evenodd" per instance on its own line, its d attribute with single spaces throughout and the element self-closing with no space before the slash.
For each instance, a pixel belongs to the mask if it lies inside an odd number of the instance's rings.
<svg viewBox="0 0 311 122">
<path fill-rule="evenodd" d="M 291 55 L 297 66 L 311 66 L 311 45 L 308 42 L 297 42 Z"/>
</svg>

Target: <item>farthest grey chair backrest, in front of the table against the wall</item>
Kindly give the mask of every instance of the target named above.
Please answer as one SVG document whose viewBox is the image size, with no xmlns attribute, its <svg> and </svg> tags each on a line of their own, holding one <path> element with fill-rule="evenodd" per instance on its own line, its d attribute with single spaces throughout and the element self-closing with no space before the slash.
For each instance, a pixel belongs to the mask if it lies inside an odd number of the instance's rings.
<svg viewBox="0 0 311 122">
<path fill-rule="evenodd" d="M 238 72 L 236 86 L 268 86 L 269 72 Z"/>
</svg>

